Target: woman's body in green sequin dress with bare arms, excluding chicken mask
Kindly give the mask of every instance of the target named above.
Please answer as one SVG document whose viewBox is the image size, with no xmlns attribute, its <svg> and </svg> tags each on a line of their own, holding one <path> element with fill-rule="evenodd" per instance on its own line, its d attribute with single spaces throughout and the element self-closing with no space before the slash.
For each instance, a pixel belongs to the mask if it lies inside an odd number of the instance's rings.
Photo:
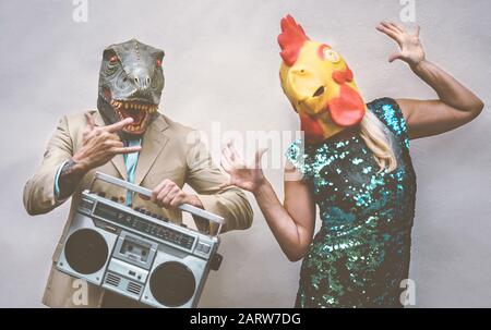
<svg viewBox="0 0 491 330">
<path fill-rule="evenodd" d="M 287 257 L 303 258 L 297 307 L 403 306 L 416 200 L 409 139 L 454 130 L 483 108 L 469 89 L 426 60 L 419 29 L 409 34 L 392 23 L 378 29 L 400 47 L 391 60 L 407 62 L 440 97 L 367 105 L 366 115 L 383 125 L 391 142 L 395 168 L 381 166 L 380 148 L 367 144 L 360 125 L 332 130 L 314 143 L 300 139 L 286 154 L 282 205 L 260 167 L 264 150 L 253 166 L 246 166 L 230 144 L 223 152 L 227 185 L 252 192 Z M 315 205 L 322 228 L 313 236 Z"/>
</svg>

